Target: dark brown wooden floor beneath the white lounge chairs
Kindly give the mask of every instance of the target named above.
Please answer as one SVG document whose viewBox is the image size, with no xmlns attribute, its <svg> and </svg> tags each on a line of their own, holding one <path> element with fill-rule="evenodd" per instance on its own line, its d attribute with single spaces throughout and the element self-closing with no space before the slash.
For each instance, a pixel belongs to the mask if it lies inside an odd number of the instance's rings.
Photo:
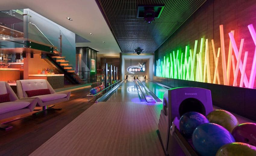
<svg viewBox="0 0 256 156">
<path fill-rule="evenodd" d="M 11 130 L 0 131 L 0 155 L 32 153 L 93 104 L 87 102 L 89 89 L 72 92 L 69 101 L 56 104 L 55 108 L 62 108 L 61 111 L 49 111 L 38 116 L 27 113 L 22 115 L 23 119 L 10 122 L 8 125 L 13 126 Z M 10 119 L 14 118 L 7 120 Z"/>
</svg>

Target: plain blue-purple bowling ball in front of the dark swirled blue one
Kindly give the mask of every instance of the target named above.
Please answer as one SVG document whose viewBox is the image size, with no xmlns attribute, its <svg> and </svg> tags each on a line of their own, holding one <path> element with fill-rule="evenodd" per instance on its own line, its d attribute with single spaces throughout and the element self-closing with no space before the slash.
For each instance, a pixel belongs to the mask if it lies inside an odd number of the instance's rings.
<svg viewBox="0 0 256 156">
<path fill-rule="evenodd" d="M 195 128 L 192 142 L 200 155 L 215 156 L 221 146 L 233 143 L 235 139 L 224 127 L 214 123 L 206 123 Z"/>
</svg>

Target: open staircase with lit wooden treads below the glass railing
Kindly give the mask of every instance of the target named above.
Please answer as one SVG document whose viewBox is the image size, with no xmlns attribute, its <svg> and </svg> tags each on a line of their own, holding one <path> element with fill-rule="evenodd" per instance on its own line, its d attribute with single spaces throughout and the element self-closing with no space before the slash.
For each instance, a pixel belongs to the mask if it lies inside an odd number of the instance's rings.
<svg viewBox="0 0 256 156">
<path fill-rule="evenodd" d="M 69 61 L 64 56 L 51 56 L 56 63 L 58 63 L 67 73 L 72 76 L 79 84 L 85 84 L 85 79 L 81 79 L 80 76 L 76 75 L 74 67 L 69 64 Z"/>
</svg>

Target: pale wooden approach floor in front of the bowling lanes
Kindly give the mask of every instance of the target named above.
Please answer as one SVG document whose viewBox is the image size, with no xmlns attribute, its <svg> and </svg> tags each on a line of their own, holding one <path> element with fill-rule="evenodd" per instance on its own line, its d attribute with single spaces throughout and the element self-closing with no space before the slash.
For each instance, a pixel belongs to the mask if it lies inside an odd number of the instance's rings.
<svg viewBox="0 0 256 156">
<path fill-rule="evenodd" d="M 99 102 L 31 155 L 164 155 L 156 130 L 161 103 Z"/>
</svg>

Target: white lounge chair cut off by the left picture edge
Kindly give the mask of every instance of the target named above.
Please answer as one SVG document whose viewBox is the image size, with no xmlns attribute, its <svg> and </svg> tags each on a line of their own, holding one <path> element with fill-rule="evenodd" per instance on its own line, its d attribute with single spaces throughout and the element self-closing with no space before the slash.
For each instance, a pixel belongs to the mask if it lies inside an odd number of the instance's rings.
<svg viewBox="0 0 256 156">
<path fill-rule="evenodd" d="M 19 100 L 7 82 L 0 81 L 0 95 L 9 93 L 10 102 L 0 103 L 0 120 L 32 112 L 36 106 L 36 99 Z M 11 129 L 12 126 L 0 124 L 2 129 Z"/>
</svg>

